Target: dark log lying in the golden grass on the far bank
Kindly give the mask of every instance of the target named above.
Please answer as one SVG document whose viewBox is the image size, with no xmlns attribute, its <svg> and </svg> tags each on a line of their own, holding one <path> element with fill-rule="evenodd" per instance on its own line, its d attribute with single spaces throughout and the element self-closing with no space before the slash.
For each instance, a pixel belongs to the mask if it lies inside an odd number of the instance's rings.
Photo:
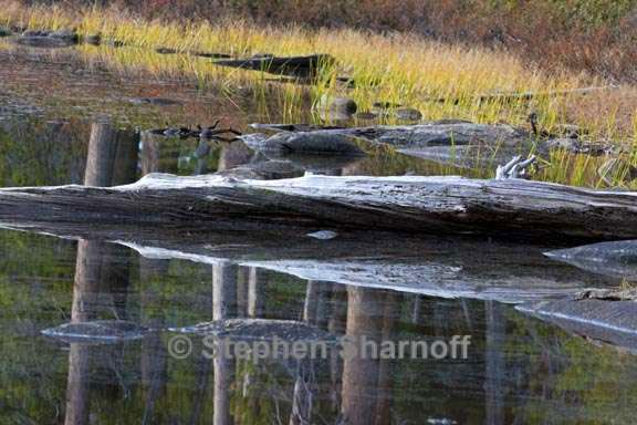
<svg viewBox="0 0 637 425">
<path fill-rule="evenodd" d="M 212 63 L 221 66 L 263 71 L 278 75 L 306 77 L 316 75 L 318 70 L 323 66 L 332 66 L 335 63 L 335 60 L 328 54 L 312 54 L 309 56 L 290 58 L 263 55 L 238 60 L 219 60 Z"/>
</svg>

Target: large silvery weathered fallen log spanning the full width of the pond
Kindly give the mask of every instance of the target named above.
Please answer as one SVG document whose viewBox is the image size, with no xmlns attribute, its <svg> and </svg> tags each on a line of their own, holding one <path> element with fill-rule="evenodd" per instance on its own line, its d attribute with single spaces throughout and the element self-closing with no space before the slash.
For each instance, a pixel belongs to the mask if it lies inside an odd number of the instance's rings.
<svg viewBox="0 0 637 425">
<path fill-rule="evenodd" d="M 330 177 L 239 180 L 150 174 L 135 184 L 0 189 L 0 221 L 340 228 L 545 240 L 637 238 L 637 193 L 522 179 Z"/>
</svg>

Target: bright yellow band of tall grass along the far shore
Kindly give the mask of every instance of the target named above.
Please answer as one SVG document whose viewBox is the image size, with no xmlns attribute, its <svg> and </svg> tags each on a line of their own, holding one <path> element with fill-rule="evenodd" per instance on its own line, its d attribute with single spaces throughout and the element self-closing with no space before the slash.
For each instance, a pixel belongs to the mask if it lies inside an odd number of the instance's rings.
<svg viewBox="0 0 637 425">
<path fill-rule="evenodd" d="M 498 92 L 567 90 L 594 83 L 582 75 L 546 75 L 525 68 L 504 52 L 452 46 L 396 34 L 377 35 L 354 30 L 305 31 L 300 28 L 255 28 L 243 21 L 218 24 L 167 23 L 144 21 L 114 10 L 87 10 L 67 13 L 60 8 L 22 8 L 7 6 L 0 10 L 0 22 L 19 23 L 30 29 L 76 28 L 81 34 L 101 33 L 129 46 L 126 49 L 84 48 L 86 56 L 106 63 L 121 72 L 144 70 L 161 77 L 196 79 L 201 85 L 211 82 L 249 83 L 255 73 L 229 71 L 212 66 L 210 60 L 190 55 L 159 55 L 153 48 L 165 46 L 180 52 L 223 52 L 238 56 L 253 53 L 278 55 L 334 55 L 340 75 L 352 76 L 357 86 L 347 91 L 368 110 L 374 101 L 407 104 L 421 110 L 428 118 L 461 116 L 478 121 L 519 122 L 526 105 L 499 102 L 477 105 L 472 96 Z M 335 94 L 344 91 L 324 75 L 325 85 L 313 91 Z M 429 97 L 460 99 L 432 103 Z M 563 100 L 542 100 L 532 107 L 542 110 L 546 124 L 558 120 Z"/>
</svg>

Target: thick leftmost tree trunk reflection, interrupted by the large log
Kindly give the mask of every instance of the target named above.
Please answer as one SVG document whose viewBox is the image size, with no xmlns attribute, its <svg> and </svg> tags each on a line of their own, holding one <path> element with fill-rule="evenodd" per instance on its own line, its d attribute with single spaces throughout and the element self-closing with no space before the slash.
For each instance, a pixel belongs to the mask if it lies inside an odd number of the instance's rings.
<svg viewBox="0 0 637 425">
<path fill-rule="evenodd" d="M 135 132 L 118 131 L 109 121 L 93 124 L 88 143 L 88 155 L 84 184 L 87 186 L 113 186 L 135 179 L 137 166 Z M 122 257 L 122 248 L 100 241 L 80 240 L 73 281 L 71 321 L 74 323 L 94 320 L 103 307 L 101 293 L 126 292 L 128 286 L 128 261 Z M 112 298 L 111 311 L 124 319 L 125 300 Z M 90 346 L 72 343 L 69 352 L 66 380 L 66 425 L 87 424 L 91 406 L 91 352 Z"/>
</svg>

